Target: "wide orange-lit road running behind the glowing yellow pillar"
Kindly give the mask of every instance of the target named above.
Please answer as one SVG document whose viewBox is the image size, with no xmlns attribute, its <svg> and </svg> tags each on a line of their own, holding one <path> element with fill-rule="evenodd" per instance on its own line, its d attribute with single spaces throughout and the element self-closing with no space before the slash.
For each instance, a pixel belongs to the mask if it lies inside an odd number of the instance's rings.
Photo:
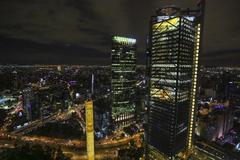
<svg viewBox="0 0 240 160">
<path fill-rule="evenodd" d="M 96 150 L 96 159 L 101 159 L 104 157 L 115 157 L 116 153 L 120 149 L 129 148 L 130 141 L 137 142 L 137 146 L 140 147 L 141 136 L 143 132 L 136 133 L 130 137 L 124 137 L 119 140 L 105 139 L 95 142 L 95 150 Z M 63 152 L 66 154 L 71 154 L 72 160 L 74 159 L 87 159 L 86 158 L 86 141 L 81 140 L 66 140 L 66 139 L 58 139 L 58 138 L 49 138 L 49 137 L 37 137 L 37 136 L 13 136 L 0 134 L 0 147 L 12 148 L 14 140 L 20 140 L 22 142 L 29 142 L 32 144 L 40 144 L 40 145 L 49 145 L 58 147 L 61 146 Z"/>
</svg>

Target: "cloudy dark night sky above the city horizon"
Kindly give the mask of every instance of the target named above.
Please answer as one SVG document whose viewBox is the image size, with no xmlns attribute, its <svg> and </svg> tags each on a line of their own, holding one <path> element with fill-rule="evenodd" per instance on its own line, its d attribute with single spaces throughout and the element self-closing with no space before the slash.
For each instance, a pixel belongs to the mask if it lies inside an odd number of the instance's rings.
<svg viewBox="0 0 240 160">
<path fill-rule="evenodd" d="M 201 63 L 239 65 L 240 1 L 206 0 Z M 0 0 L 0 64 L 110 64 L 111 36 L 137 39 L 145 62 L 150 16 L 197 0 Z"/>
</svg>

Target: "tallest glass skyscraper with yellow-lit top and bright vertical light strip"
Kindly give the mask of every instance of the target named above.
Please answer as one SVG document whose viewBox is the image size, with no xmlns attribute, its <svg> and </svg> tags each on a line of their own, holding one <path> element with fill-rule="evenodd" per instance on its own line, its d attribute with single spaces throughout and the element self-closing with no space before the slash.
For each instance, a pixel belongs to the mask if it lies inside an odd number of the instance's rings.
<svg viewBox="0 0 240 160">
<path fill-rule="evenodd" d="M 148 39 L 149 159 L 171 159 L 192 148 L 202 10 L 160 8 Z"/>
</svg>

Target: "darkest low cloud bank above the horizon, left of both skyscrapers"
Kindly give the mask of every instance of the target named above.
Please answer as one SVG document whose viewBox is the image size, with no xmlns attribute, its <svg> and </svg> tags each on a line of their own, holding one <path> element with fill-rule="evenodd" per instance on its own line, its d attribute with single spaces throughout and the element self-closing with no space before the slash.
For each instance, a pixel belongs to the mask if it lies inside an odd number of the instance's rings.
<svg viewBox="0 0 240 160">
<path fill-rule="evenodd" d="M 0 47 L 5 53 L 2 64 L 95 64 L 99 62 L 107 65 L 109 63 L 106 61 L 109 54 L 77 45 L 36 43 L 0 37 Z M 12 55 L 16 57 L 13 58 Z"/>
</svg>

